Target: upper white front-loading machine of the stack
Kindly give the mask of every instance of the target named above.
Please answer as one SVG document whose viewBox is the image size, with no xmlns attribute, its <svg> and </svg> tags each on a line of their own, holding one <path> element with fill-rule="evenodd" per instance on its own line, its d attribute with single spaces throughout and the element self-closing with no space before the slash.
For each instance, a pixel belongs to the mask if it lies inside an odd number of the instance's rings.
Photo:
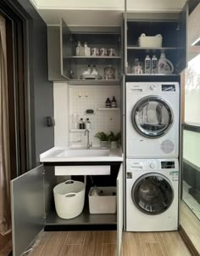
<svg viewBox="0 0 200 256">
<path fill-rule="evenodd" d="M 126 82 L 126 157 L 177 157 L 179 82 Z"/>
</svg>

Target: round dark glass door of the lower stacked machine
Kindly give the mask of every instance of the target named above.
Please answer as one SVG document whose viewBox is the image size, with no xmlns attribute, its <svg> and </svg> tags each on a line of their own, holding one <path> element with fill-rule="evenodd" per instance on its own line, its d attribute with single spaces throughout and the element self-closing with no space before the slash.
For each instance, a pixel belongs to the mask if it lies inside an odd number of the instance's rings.
<svg viewBox="0 0 200 256">
<path fill-rule="evenodd" d="M 174 199 L 172 185 L 162 174 L 145 174 L 136 180 L 131 191 L 132 201 L 142 213 L 164 213 Z"/>
</svg>

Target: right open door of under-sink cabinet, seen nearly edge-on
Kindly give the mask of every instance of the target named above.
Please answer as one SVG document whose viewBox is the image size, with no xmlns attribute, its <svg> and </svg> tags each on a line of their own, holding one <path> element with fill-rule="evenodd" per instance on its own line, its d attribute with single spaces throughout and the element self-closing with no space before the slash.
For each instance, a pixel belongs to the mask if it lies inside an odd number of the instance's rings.
<svg viewBox="0 0 200 256">
<path fill-rule="evenodd" d="M 123 163 L 121 163 L 119 168 L 119 174 L 117 177 L 117 256 L 120 256 L 121 253 L 121 243 L 123 235 Z"/>
</svg>

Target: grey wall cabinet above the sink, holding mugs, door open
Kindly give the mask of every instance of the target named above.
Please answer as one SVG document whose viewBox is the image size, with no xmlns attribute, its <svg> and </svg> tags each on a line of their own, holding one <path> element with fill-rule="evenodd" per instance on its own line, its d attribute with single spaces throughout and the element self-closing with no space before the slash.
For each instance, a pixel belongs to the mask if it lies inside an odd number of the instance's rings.
<svg viewBox="0 0 200 256">
<path fill-rule="evenodd" d="M 116 84 L 121 78 L 121 27 L 48 26 L 49 80 Z M 58 40 L 58 38 L 60 40 Z"/>
</svg>

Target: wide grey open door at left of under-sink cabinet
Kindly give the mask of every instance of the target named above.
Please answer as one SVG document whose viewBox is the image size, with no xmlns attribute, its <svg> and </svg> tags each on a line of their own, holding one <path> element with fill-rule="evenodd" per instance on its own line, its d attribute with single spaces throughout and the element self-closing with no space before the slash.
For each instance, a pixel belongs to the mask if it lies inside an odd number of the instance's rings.
<svg viewBox="0 0 200 256">
<path fill-rule="evenodd" d="M 13 255 L 20 256 L 44 227 L 43 166 L 11 180 Z"/>
</svg>

